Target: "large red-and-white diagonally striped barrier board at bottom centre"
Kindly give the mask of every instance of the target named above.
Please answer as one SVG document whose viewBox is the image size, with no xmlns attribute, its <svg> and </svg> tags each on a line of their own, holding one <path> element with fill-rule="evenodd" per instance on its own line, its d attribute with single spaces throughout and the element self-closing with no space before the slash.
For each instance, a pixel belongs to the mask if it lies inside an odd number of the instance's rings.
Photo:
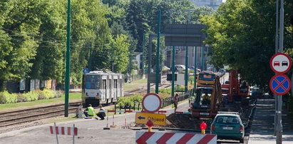
<svg viewBox="0 0 293 144">
<path fill-rule="evenodd" d="M 157 132 L 143 132 L 137 131 L 135 135 L 135 142 L 138 144 L 148 143 L 176 143 L 176 144 L 214 144 L 217 143 L 217 135 L 197 134 L 197 133 L 157 133 Z"/>
</svg>

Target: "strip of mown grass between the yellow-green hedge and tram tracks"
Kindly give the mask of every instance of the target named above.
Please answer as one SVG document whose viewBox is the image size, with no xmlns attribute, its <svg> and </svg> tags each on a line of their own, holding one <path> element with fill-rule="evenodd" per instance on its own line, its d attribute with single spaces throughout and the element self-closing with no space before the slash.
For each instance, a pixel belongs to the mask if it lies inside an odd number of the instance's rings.
<svg viewBox="0 0 293 144">
<path fill-rule="evenodd" d="M 69 101 L 81 101 L 81 93 L 69 93 Z M 30 101 L 24 103 L 4 103 L 0 104 L 0 110 L 11 110 L 17 108 L 30 108 L 34 106 L 47 106 L 52 103 L 64 103 L 65 95 L 63 94 L 61 98 L 51 98 L 39 101 Z"/>
</svg>

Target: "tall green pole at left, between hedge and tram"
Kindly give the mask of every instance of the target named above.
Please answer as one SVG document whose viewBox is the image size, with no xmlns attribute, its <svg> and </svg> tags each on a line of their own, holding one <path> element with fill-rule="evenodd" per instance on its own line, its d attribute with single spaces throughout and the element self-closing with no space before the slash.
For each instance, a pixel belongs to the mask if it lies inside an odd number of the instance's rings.
<svg viewBox="0 0 293 144">
<path fill-rule="evenodd" d="M 70 77 L 70 18 L 71 4 L 68 0 L 67 11 L 67 43 L 66 43 L 66 76 L 65 76 L 65 110 L 64 116 L 68 117 L 68 98 L 69 98 L 69 77 Z"/>
</svg>

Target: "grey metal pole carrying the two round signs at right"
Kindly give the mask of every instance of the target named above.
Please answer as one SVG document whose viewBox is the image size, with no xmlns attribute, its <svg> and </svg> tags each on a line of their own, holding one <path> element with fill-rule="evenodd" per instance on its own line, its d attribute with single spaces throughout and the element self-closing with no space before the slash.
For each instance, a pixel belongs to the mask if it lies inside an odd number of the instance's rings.
<svg viewBox="0 0 293 144">
<path fill-rule="evenodd" d="M 283 52 L 283 38 L 284 38 L 284 0 L 281 0 L 281 9 L 279 11 L 279 52 Z M 278 97 L 278 121 L 277 121 L 277 144 L 282 143 L 282 95 Z"/>
</svg>

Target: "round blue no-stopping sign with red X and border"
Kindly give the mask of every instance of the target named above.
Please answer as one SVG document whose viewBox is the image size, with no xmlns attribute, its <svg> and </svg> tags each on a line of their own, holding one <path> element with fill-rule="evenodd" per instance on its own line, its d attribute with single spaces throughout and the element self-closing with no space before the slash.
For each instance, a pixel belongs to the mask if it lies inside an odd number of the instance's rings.
<svg viewBox="0 0 293 144">
<path fill-rule="evenodd" d="M 284 95 L 290 91 L 291 81 L 286 75 L 277 74 L 269 81 L 269 88 L 277 95 Z"/>
</svg>

